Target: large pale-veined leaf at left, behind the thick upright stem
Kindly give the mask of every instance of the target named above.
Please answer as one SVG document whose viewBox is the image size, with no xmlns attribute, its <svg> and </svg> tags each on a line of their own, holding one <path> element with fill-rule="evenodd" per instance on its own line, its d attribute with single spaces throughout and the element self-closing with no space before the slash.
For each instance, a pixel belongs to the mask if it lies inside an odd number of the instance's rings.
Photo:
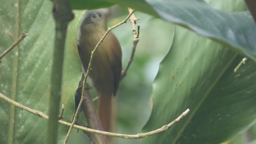
<svg viewBox="0 0 256 144">
<path fill-rule="evenodd" d="M 29 34 L 7 54 L 0 63 L 0 92 L 9 98 L 35 110 L 48 114 L 50 73 L 55 24 L 52 18 L 52 2 L 48 0 L 1 0 L 0 53 L 24 30 Z M 66 41 L 63 71 L 64 120 L 72 118 L 74 90 L 81 75 L 76 52 L 76 25 L 69 27 Z M 73 25 L 73 26 L 72 26 Z M 22 111 L 0 99 L 0 143 L 44 144 L 47 120 Z M 63 143 L 68 127 L 59 126 L 58 142 Z"/>
</svg>

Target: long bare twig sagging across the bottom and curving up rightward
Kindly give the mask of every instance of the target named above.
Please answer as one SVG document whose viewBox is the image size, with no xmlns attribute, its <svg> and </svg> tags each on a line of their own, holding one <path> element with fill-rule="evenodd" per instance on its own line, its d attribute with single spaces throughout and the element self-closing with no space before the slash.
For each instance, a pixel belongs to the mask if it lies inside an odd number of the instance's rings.
<svg viewBox="0 0 256 144">
<path fill-rule="evenodd" d="M 23 110 L 26 110 L 32 114 L 36 114 L 46 120 L 49 120 L 49 116 L 47 116 L 46 114 L 44 114 L 43 112 L 40 112 L 38 110 L 33 110 L 31 108 L 28 108 L 22 104 L 19 104 L 18 102 L 15 102 L 14 100 L 8 98 L 7 96 L 4 96 L 2 93 L 0 93 L 0 98 L 6 100 L 7 102 L 11 103 L 11 104 L 14 104 L 15 106 L 19 107 L 19 108 L 22 108 Z M 162 126 L 161 128 L 158 128 L 156 130 L 152 130 L 150 132 L 146 132 L 146 133 L 139 133 L 139 134 L 118 134 L 118 133 L 113 133 L 113 132 L 104 132 L 104 131 L 101 131 L 101 130 L 94 130 L 94 129 L 91 129 L 91 128 L 86 128 L 84 126 L 78 126 L 78 125 L 74 125 L 74 128 L 77 128 L 79 130 L 84 130 L 86 132 L 92 132 L 92 133 L 96 133 L 96 134 L 103 134 L 103 135 L 106 135 L 106 136 L 114 136 L 114 137 L 118 137 L 118 138 L 129 138 L 129 139 L 139 139 L 139 138 L 145 138 L 145 137 L 148 137 L 148 136 L 151 136 L 153 134 L 157 134 L 159 132 L 163 132 L 165 130 L 168 130 L 172 125 L 174 125 L 176 122 L 178 122 L 180 119 L 182 119 L 184 116 L 186 116 L 186 114 L 188 114 L 190 110 L 187 109 L 185 110 L 184 112 L 182 112 L 182 114 L 180 116 L 178 116 L 178 118 L 176 118 L 174 121 L 170 122 L 169 124 L 167 125 L 164 125 Z M 69 122 L 65 122 L 63 120 L 58 120 L 58 122 L 60 124 L 64 124 L 66 126 L 72 126 L 71 123 Z"/>
</svg>

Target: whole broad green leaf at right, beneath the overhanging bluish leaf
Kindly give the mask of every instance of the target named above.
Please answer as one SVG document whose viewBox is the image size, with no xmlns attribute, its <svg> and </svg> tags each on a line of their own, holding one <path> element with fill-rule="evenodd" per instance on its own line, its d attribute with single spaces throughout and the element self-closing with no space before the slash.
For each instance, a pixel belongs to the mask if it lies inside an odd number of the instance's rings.
<svg viewBox="0 0 256 144">
<path fill-rule="evenodd" d="M 242 57 L 184 28 L 175 32 L 153 84 L 153 110 L 143 132 L 191 111 L 144 143 L 216 144 L 248 129 L 256 119 L 256 64 L 248 61 L 234 73 Z"/>
</svg>

